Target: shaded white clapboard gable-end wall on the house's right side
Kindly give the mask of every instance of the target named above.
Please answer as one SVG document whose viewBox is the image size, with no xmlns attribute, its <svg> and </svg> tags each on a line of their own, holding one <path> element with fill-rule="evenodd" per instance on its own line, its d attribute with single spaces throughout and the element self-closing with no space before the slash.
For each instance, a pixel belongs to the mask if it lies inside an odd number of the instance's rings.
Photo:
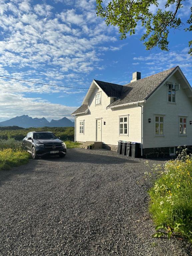
<svg viewBox="0 0 192 256">
<path fill-rule="evenodd" d="M 180 83 L 173 75 L 169 82 Z M 176 104 L 167 101 L 167 86 L 164 84 L 144 104 L 143 148 L 192 145 L 192 103 L 182 84 L 176 91 Z M 164 115 L 164 136 L 155 136 L 155 114 Z M 179 116 L 187 117 L 187 136 L 179 135 Z M 151 123 L 148 119 L 151 118 Z"/>
</svg>

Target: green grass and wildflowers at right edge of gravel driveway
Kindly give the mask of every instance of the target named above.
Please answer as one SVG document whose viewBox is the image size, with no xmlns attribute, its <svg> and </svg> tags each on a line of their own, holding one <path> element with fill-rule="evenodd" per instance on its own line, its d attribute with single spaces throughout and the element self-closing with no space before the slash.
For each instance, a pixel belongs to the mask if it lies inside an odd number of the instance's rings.
<svg viewBox="0 0 192 256">
<path fill-rule="evenodd" d="M 176 160 L 166 162 L 149 195 L 149 209 L 157 225 L 154 237 L 166 232 L 169 239 L 176 234 L 192 242 L 192 157 L 186 155 L 186 149 Z"/>
</svg>

